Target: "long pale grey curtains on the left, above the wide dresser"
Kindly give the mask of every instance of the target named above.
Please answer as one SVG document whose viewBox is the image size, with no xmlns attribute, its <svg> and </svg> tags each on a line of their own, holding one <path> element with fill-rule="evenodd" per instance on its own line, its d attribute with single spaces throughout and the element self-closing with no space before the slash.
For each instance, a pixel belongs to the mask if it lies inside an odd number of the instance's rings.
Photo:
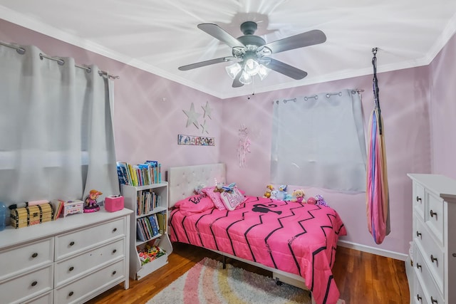
<svg viewBox="0 0 456 304">
<path fill-rule="evenodd" d="M 0 46 L 0 201 L 118 194 L 112 80 L 21 48 Z"/>
</svg>

